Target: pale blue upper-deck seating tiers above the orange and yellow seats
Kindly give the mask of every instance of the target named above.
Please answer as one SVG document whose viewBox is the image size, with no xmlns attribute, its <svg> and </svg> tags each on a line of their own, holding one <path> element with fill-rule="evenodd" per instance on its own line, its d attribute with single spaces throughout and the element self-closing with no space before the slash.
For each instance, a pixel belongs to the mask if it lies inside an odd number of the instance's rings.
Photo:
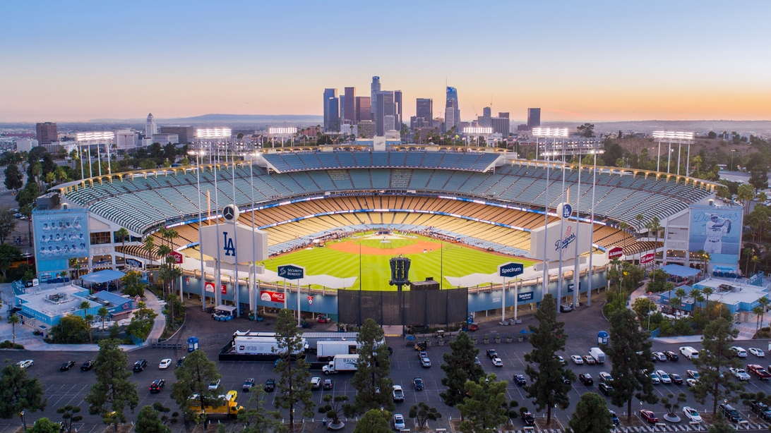
<svg viewBox="0 0 771 433">
<path fill-rule="evenodd" d="M 323 196 L 325 193 L 349 193 L 355 190 L 369 193 L 373 190 L 405 193 L 414 190 L 421 197 L 402 198 L 423 200 L 426 198 L 424 196 L 453 195 L 536 209 L 542 209 L 547 203 L 553 207 L 562 200 L 561 170 L 550 170 L 548 180 L 543 168 L 516 163 L 498 167 L 495 173 L 480 172 L 498 157 L 497 153 L 422 151 L 268 154 L 265 158 L 273 166 L 288 173 L 268 173 L 268 170 L 254 166 L 254 178 L 251 179 L 249 167 L 241 165 L 235 170 L 235 179 L 231 170 L 218 171 L 215 187 L 214 173 L 207 169 L 200 173 L 200 198 L 196 173 L 192 169 L 184 172 L 158 170 L 156 173 L 127 176 L 124 180 L 113 180 L 112 183 L 99 183 L 97 180 L 93 186 L 71 190 L 66 196 L 136 233 L 146 233 L 163 224 L 197 218 L 199 200 L 204 214 L 208 210 L 216 210 L 217 206 L 221 208 L 230 204 L 233 200 L 243 208 L 251 207 L 253 199 L 257 206 L 263 206 L 293 197 Z M 545 192 L 547 183 L 550 187 L 548 196 Z M 711 194 L 708 190 L 676 183 L 675 180 L 665 180 L 663 177 L 657 180 L 649 176 L 645 179 L 643 175 L 622 176 L 618 172 L 609 173 L 608 170 L 597 174 L 594 191 L 588 170 L 584 170 L 581 175 L 580 191 L 577 170 L 566 173 L 565 185 L 570 191 L 569 200 L 574 210 L 582 215 L 587 215 L 591 210 L 591 197 L 594 193 L 595 214 L 598 218 L 625 221 L 633 227 L 638 227 L 635 221 L 638 214 L 643 216 L 642 224 L 654 216 L 664 220 L 685 210 L 690 203 L 703 200 Z M 369 200 L 363 196 L 345 199 Z M 382 209 L 380 206 L 356 207 L 358 205 L 353 201 L 351 206 L 351 209 Z M 500 209 L 479 206 L 480 209 L 474 210 L 475 213 L 466 215 L 484 219 L 480 214 L 495 213 Z M 366 223 L 367 218 L 362 219 L 361 223 Z"/>
</svg>

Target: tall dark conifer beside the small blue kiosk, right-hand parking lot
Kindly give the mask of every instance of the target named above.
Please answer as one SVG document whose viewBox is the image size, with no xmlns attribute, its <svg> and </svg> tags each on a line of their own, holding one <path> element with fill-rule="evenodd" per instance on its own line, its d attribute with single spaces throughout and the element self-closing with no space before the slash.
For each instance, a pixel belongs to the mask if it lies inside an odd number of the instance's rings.
<svg viewBox="0 0 771 433">
<path fill-rule="evenodd" d="M 635 314 L 626 308 L 615 310 L 608 318 L 611 323 L 611 346 L 602 346 L 611 361 L 613 391 L 611 403 L 627 407 L 627 422 L 631 422 L 631 401 L 638 398 L 654 401 L 654 389 L 651 377 L 644 371 L 653 371 L 651 361 L 651 340 L 643 331 Z"/>
</svg>

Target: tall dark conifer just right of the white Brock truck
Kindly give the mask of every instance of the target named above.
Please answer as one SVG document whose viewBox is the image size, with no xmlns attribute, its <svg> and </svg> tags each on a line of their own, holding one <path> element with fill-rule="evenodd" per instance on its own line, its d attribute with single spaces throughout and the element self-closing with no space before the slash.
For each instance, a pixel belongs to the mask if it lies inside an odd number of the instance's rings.
<svg viewBox="0 0 771 433">
<path fill-rule="evenodd" d="M 392 411 L 394 404 L 391 395 L 378 392 L 379 389 L 389 390 L 393 386 L 390 378 L 391 361 L 382 327 L 368 318 L 359 329 L 356 341 L 359 344 L 356 350 L 359 361 L 351 379 L 351 385 L 356 390 L 355 413 L 362 415 L 369 409 L 379 408 Z"/>
</svg>

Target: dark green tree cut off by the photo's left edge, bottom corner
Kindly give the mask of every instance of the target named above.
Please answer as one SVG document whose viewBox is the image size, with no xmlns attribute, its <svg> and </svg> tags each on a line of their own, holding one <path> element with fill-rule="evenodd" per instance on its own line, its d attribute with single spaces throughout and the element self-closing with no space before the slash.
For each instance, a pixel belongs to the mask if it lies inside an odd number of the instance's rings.
<svg viewBox="0 0 771 433">
<path fill-rule="evenodd" d="M 44 394 L 40 380 L 29 378 L 25 368 L 5 364 L 0 377 L 0 418 L 13 419 L 22 411 L 45 411 L 48 400 Z"/>
</svg>

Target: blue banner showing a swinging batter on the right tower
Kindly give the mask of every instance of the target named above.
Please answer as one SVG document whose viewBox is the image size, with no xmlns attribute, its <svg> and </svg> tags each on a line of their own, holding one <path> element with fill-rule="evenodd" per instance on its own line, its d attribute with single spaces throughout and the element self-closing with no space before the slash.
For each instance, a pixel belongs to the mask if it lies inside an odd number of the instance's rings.
<svg viewBox="0 0 771 433">
<path fill-rule="evenodd" d="M 739 263 L 742 207 L 691 206 L 688 249 L 704 250 L 710 263 Z"/>
</svg>

